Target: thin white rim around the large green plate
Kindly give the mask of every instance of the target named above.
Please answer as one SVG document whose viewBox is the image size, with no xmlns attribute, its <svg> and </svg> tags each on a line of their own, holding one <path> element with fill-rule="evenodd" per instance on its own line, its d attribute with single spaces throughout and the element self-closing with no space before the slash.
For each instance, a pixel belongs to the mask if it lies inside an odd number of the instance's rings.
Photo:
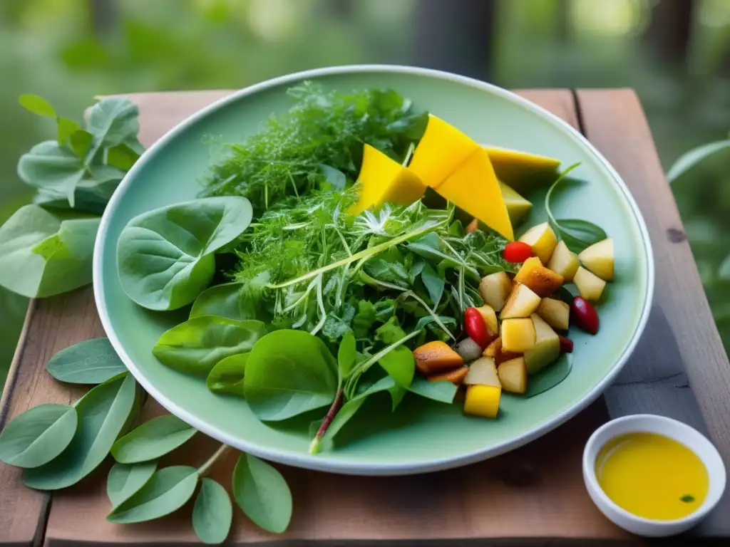
<svg viewBox="0 0 730 547">
<path fill-rule="evenodd" d="M 562 128 L 565 133 L 572 137 L 572 139 L 582 144 L 584 147 L 587 147 L 588 150 L 593 153 L 596 160 L 598 160 L 602 167 L 607 171 L 607 173 L 610 174 L 615 185 L 617 185 L 618 189 L 621 190 L 621 193 L 623 193 L 623 198 L 626 200 L 626 203 L 629 204 L 629 208 L 631 209 L 631 212 L 633 212 L 634 218 L 637 220 L 637 224 L 639 225 L 639 233 L 641 233 L 642 241 L 644 243 L 644 252 L 646 259 L 647 291 L 644 306 L 642 307 L 641 314 L 639 316 L 639 322 L 637 323 L 637 328 L 636 330 L 634 330 L 634 334 L 632 335 L 629 344 L 626 345 L 626 349 L 624 349 L 621 357 L 618 358 L 617 362 L 615 362 L 615 365 L 606 374 L 606 376 L 604 376 L 602 380 L 598 382 L 598 384 L 593 386 L 590 391 L 588 391 L 583 397 L 581 397 L 580 400 L 574 406 L 572 406 L 572 408 L 567 408 L 565 411 L 561 412 L 561 414 L 558 414 L 557 416 L 553 417 L 553 419 L 550 419 L 548 422 L 545 422 L 545 424 L 542 424 L 542 426 L 539 426 L 534 430 L 523 433 L 522 435 L 518 435 L 517 437 L 512 438 L 512 440 L 510 441 L 505 441 L 503 443 L 499 443 L 496 446 L 491 446 L 488 449 L 480 449 L 477 451 L 471 451 L 467 454 L 461 454 L 457 457 L 443 457 L 418 464 L 396 463 L 392 465 L 366 465 L 362 463 L 350 463 L 342 461 L 332 461 L 328 459 L 318 459 L 317 456 L 312 456 L 311 454 L 307 454 L 304 452 L 302 454 L 283 454 L 277 449 L 268 449 L 265 446 L 251 444 L 245 441 L 245 439 L 234 438 L 231 435 L 226 435 L 226 433 L 220 432 L 220 430 L 218 430 L 218 428 L 214 425 L 209 424 L 202 419 L 199 419 L 197 416 L 195 416 L 195 414 L 187 411 L 185 408 L 178 406 L 176 403 L 172 402 L 172 400 L 164 397 L 164 395 L 161 395 L 161 393 L 158 392 L 157 389 L 155 389 L 153 384 L 147 381 L 144 373 L 142 373 L 142 371 L 137 368 L 137 365 L 135 365 L 134 360 L 129 357 L 111 324 L 111 318 L 106 306 L 104 284 L 102 282 L 104 241 L 106 241 L 108 236 L 112 213 L 115 211 L 115 209 L 118 208 L 118 204 L 122 200 L 123 195 L 126 194 L 126 190 L 131 184 L 131 180 L 134 179 L 137 171 L 139 171 L 145 165 L 145 163 L 147 163 L 147 160 L 155 155 L 158 149 L 165 147 L 169 141 L 172 141 L 178 135 L 183 133 L 188 128 L 188 126 L 195 124 L 204 117 L 212 114 L 212 112 L 222 109 L 224 106 L 228 106 L 228 104 L 237 102 L 240 99 L 245 98 L 246 96 L 254 95 L 255 93 L 259 93 L 269 88 L 274 88 L 291 82 L 298 82 L 308 78 L 322 77 L 333 74 L 368 72 L 396 72 L 413 74 L 416 76 L 423 76 L 434 79 L 445 79 L 448 81 L 459 83 L 461 85 L 468 85 L 470 87 L 492 93 L 496 96 L 503 98 L 504 100 L 515 103 L 518 106 L 521 106 L 524 109 L 533 112 L 535 115 L 542 117 L 545 120 L 548 120 L 550 123 L 558 125 L 558 127 Z M 329 66 L 319 69 L 298 71 L 291 74 L 285 74 L 280 77 L 267 79 L 264 82 L 255 83 L 253 85 L 247 86 L 246 88 L 234 91 L 226 97 L 218 99 L 212 104 L 205 106 L 203 109 L 200 109 L 198 112 L 193 113 L 193 115 L 185 118 L 185 120 L 181 121 L 180 123 L 177 123 L 177 125 L 174 125 L 174 127 L 170 129 L 167 133 L 165 133 L 164 136 L 155 141 L 152 146 L 145 150 L 142 156 L 140 156 L 139 160 L 137 160 L 137 163 L 135 163 L 134 166 L 132 166 L 132 168 L 124 176 L 114 194 L 112 195 L 109 203 L 107 203 L 107 207 L 104 209 L 104 213 L 101 216 L 101 222 L 99 224 L 99 230 L 96 234 L 96 241 L 93 249 L 92 282 L 94 301 L 96 303 L 96 309 L 99 313 L 99 319 L 101 319 L 101 326 L 104 328 L 104 332 L 107 334 L 107 337 L 109 338 L 112 347 L 115 349 L 115 352 L 117 352 L 126 368 L 128 368 L 128 371 L 132 374 L 132 376 L 134 376 L 134 379 L 139 382 L 139 384 L 145 389 L 145 391 L 147 391 L 147 393 L 149 393 L 149 395 L 153 397 L 161 406 L 163 406 L 171 414 L 174 414 L 175 416 L 182 419 L 184 422 L 190 424 L 192 427 L 195 427 L 196 430 L 199 430 L 200 432 L 204 433 L 204 435 L 208 435 L 211 438 L 214 438 L 222 443 L 233 446 L 236 449 L 253 454 L 256 457 L 261 457 L 263 459 L 267 459 L 269 461 L 277 462 L 284 465 L 291 465 L 296 468 L 357 476 L 402 476 L 458 468 L 464 465 L 469 465 L 472 463 L 483 461 L 485 459 L 499 456 L 500 454 L 504 454 L 514 449 L 518 449 L 520 446 L 524 446 L 527 443 L 530 443 L 531 441 L 534 441 L 537 438 L 540 438 L 543 435 L 546 435 L 548 432 L 556 429 L 556 427 L 564 424 L 573 416 L 576 416 L 578 413 L 580 413 L 580 411 L 583 411 L 583 409 L 593 403 L 593 401 L 596 400 L 607 387 L 609 387 L 613 379 L 618 376 L 618 373 L 620 373 L 623 367 L 626 365 L 626 362 L 629 360 L 629 357 L 631 357 L 631 354 L 634 352 L 634 349 L 636 348 L 645 330 L 654 298 L 655 265 L 653 260 L 653 248 L 646 222 L 641 211 L 639 210 L 639 206 L 634 200 L 634 197 L 631 195 L 629 188 L 626 186 L 626 183 L 623 182 L 623 179 L 615 170 L 615 168 L 613 168 L 608 160 L 604 158 L 604 155 L 602 155 L 602 153 L 599 152 L 599 150 L 597 150 L 596 147 L 594 147 L 593 144 L 591 144 L 591 142 L 585 138 L 585 136 L 583 136 L 579 131 L 573 128 L 572 125 L 562 120 L 560 117 L 554 115 L 552 112 L 549 112 L 548 110 L 542 108 L 542 106 L 538 106 L 528 99 L 512 93 L 512 91 L 510 90 L 506 90 L 504 88 L 500 88 L 497 85 L 493 85 L 488 82 L 482 82 L 471 77 L 461 76 L 458 74 L 453 74 L 447 71 L 441 71 L 436 69 L 421 68 L 417 66 L 405 66 L 396 64 L 354 64 Z"/>
</svg>

